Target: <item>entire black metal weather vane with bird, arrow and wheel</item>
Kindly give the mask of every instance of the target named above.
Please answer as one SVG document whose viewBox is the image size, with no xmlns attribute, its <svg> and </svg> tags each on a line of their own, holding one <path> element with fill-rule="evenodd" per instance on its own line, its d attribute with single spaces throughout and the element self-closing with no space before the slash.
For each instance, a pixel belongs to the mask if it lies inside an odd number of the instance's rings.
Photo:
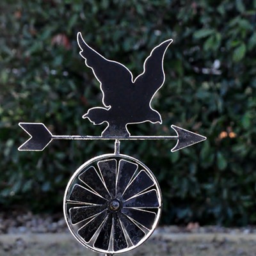
<svg viewBox="0 0 256 256">
<path fill-rule="evenodd" d="M 132 136 L 128 124 L 162 122 L 151 101 L 163 86 L 163 59 L 172 40 L 155 47 L 144 70 L 133 79 L 121 63 L 107 60 L 77 34 L 80 54 L 100 83 L 104 108 L 88 110 L 83 118 L 107 123 L 101 136 L 52 135 L 41 123 L 19 123 L 31 138 L 19 150 L 44 150 L 52 140 L 115 140 L 115 152 L 94 157 L 72 175 L 63 210 L 73 236 L 95 252 L 113 255 L 136 248 L 152 234 L 162 210 L 161 189 L 150 169 L 134 157 L 120 154 L 121 140 L 177 140 L 172 152 L 206 140 L 172 125 L 176 136 Z"/>
</svg>

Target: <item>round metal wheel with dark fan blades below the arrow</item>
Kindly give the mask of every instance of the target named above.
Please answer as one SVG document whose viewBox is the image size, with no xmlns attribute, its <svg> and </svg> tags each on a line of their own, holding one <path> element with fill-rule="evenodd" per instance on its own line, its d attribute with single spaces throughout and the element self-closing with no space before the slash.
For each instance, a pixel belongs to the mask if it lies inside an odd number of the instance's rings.
<svg viewBox="0 0 256 256">
<path fill-rule="evenodd" d="M 68 182 L 64 215 L 73 236 L 100 253 L 136 248 L 161 214 L 156 178 L 133 157 L 107 154 L 80 166 Z"/>
</svg>

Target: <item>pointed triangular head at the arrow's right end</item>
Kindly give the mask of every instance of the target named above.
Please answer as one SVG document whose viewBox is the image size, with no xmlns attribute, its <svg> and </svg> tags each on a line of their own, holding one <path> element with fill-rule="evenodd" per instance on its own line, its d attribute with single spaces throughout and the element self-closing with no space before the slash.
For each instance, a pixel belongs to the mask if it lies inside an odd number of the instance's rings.
<svg viewBox="0 0 256 256">
<path fill-rule="evenodd" d="M 195 143 L 206 140 L 205 136 L 196 134 L 185 129 L 182 129 L 178 126 L 172 125 L 172 129 L 177 133 L 178 141 L 175 147 L 172 148 L 172 152 L 180 150 L 181 148 L 189 147 Z"/>
</svg>

